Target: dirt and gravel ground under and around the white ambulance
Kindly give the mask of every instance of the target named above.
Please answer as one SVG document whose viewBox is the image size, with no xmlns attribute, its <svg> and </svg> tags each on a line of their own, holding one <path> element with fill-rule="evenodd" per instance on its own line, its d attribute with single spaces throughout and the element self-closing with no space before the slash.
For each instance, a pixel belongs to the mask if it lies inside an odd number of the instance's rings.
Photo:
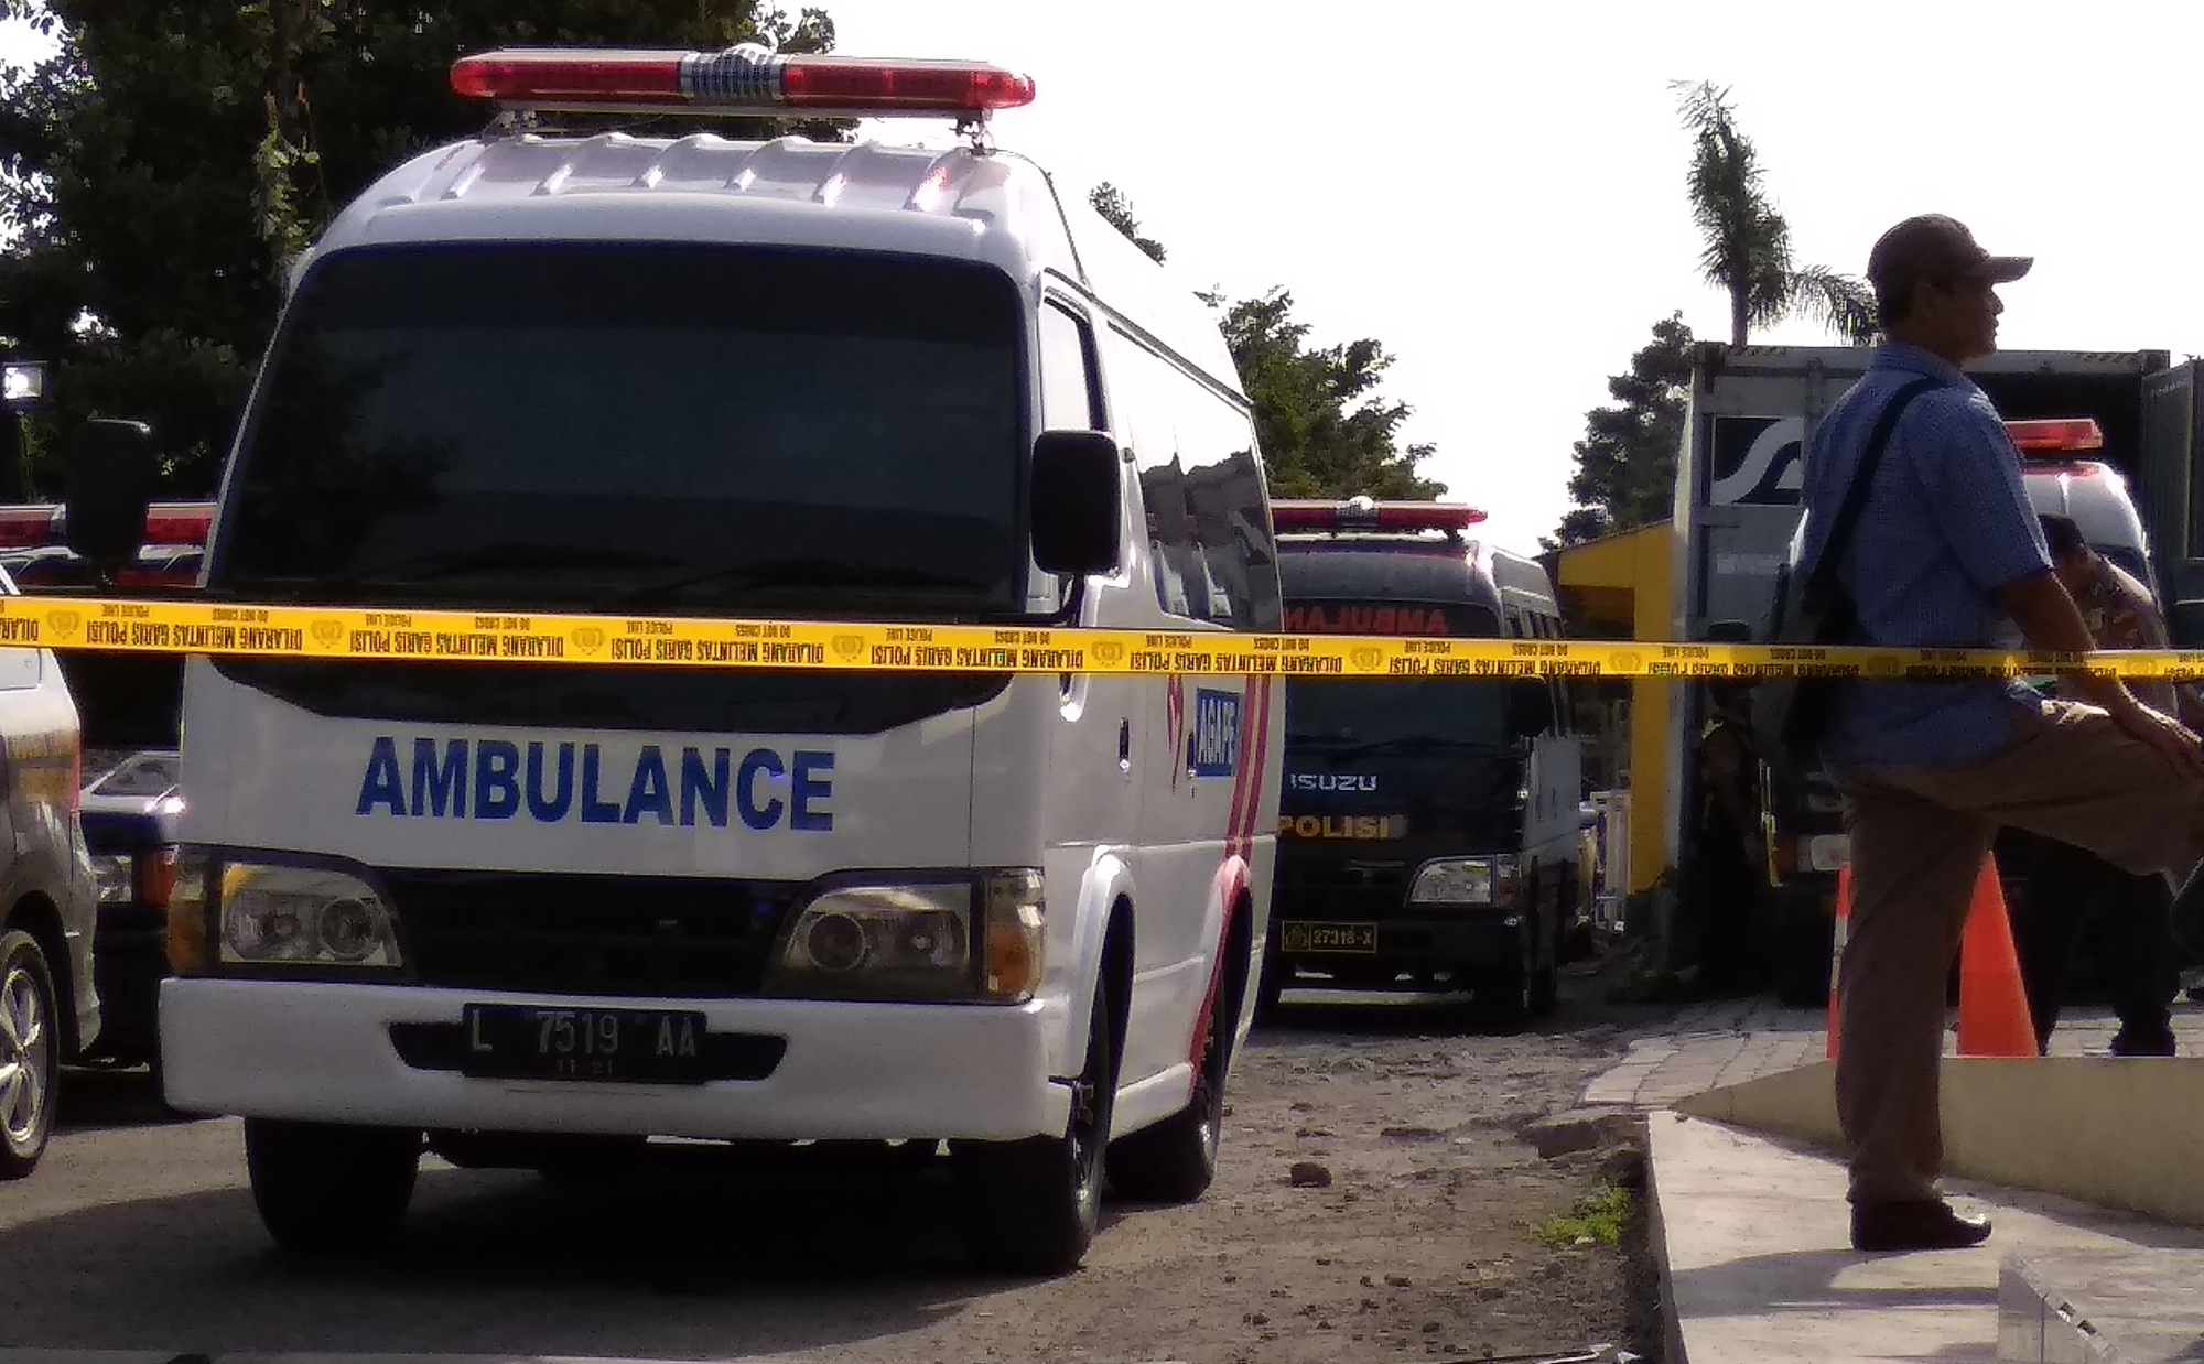
<svg viewBox="0 0 2204 1364">
<path fill-rule="evenodd" d="M 441 1161 L 388 1252 L 284 1260 L 236 1122 L 174 1122 L 141 1073 L 79 1073 L 46 1166 L 0 1199 L 0 1234 L 37 1247 L 0 1276 L 0 1346 L 1353 1364 L 1613 1344 L 1653 1360 L 1638 1219 L 1620 1243 L 1549 1241 L 1580 1199 L 1638 1179 L 1635 1128 L 1554 1115 L 1657 1016 L 1567 996 L 1596 983 L 1571 981 L 1514 1038 L 1433 1005 L 1289 1005 L 1234 1069 L 1208 1197 L 1106 1208 L 1087 1267 L 1056 1280 L 972 1276 L 934 1174 L 575 1188 Z"/>
</svg>

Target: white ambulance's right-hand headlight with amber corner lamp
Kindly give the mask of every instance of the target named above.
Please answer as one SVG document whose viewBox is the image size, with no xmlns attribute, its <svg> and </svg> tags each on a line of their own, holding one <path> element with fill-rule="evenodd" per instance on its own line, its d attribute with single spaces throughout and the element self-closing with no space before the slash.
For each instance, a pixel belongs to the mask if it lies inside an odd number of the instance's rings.
<svg viewBox="0 0 2204 1364">
<path fill-rule="evenodd" d="M 1040 873 L 833 886 L 789 921 L 767 989 L 800 998 L 1025 1003 L 1040 983 Z"/>
</svg>

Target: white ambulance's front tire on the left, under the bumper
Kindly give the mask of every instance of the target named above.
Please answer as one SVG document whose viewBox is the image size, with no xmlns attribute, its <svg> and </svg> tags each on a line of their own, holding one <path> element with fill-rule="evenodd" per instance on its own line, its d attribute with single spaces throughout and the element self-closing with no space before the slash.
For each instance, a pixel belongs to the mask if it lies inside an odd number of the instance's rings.
<svg viewBox="0 0 2204 1364">
<path fill-rule="evenodd" d="M 260 1225 L 282 1249 L 370 1249 L 406 1221 L 421 1133 L 247 1117 L 245 1168 Z"/>
</svg>

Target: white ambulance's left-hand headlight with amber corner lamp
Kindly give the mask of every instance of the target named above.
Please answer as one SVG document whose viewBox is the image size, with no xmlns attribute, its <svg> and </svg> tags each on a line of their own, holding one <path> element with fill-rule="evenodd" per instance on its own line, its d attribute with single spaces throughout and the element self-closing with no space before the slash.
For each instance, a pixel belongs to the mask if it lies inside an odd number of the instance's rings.
<svg viewBox="0 0 2204 1364">
<path fill-rule="evenodd" d="M 390 970 L 397 914 L 359 877 L 326 866 L 227 862 L 216 879 L 223 965 Z"/>
</svg>

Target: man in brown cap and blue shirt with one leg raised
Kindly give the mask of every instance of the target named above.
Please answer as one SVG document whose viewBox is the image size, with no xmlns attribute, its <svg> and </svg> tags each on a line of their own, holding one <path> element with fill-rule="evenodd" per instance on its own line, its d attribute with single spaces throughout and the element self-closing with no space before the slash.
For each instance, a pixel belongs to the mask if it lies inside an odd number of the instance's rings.
<svg viewBox="0 0 2204 1364">
<path fill-rule="evenodd" d="M 1805 467 L 1803 562 L 1843 502 L 1893 394 L 1865 509 L 1836 564 L 1856 643 L 2094 646 L 2043 544 L 2021 458 L 1959 366 L 1997 350 L 1999 284 L 2032 258 L 1990 256 L 1953 218 L 1891 227 L 1867 278 L 1887 344 L 1823 416 Z M 2131 873 L 2204 859 L 2204 749 L 2111 676 L 2045 699 L 2023 681 L 1847 681 L 1832 690 L 1821 760 L 1845 795 L 1851 923 L 1838 976 L 1836 1104 L 1851 1148 L 1851 1243 L 1957 1249 L 1990 1236 L 1937 1190 L 1944 998 L 1968 903 L 1999 826 L 2054 837 Z"/>
</svg>

